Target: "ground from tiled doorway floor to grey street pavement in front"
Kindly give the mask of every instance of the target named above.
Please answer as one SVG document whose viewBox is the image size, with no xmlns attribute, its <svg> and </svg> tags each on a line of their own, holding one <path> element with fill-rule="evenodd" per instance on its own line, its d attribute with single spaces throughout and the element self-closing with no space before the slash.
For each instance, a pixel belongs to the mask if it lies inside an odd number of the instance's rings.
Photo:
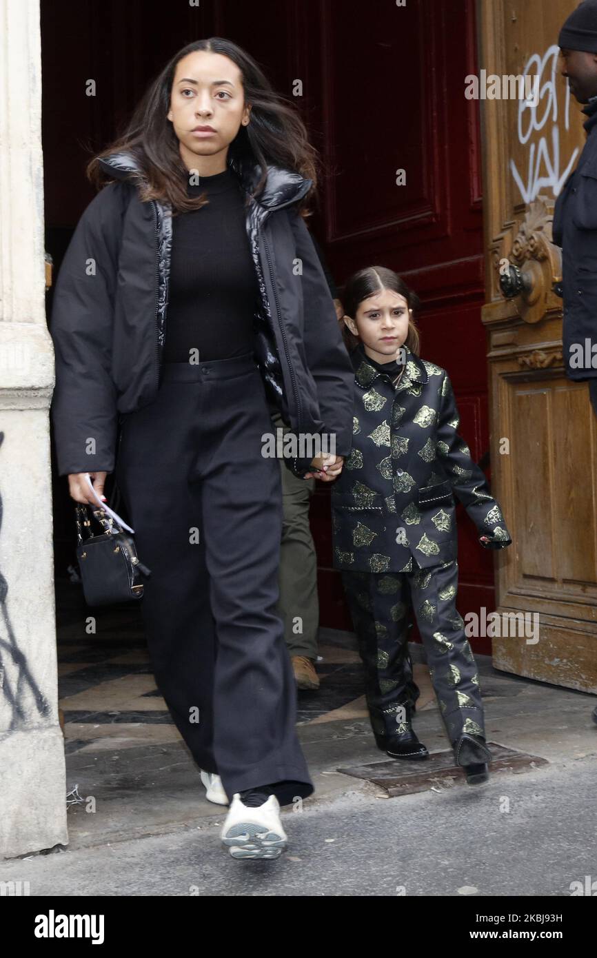
<svg viewBox="0 0 597 958">
<path fill-rule="evenodd" d="M 297 874 L 295 881 L 284 866 L 283 887 L 273 878 L 264 879 L 264 884 L 255 879 L 255 884 L 247 877 L 249 863 L 242 863 L 241 872 L 234 871 L 238 863 L 219 847 L 218 827 L 225 810 L 205 799 L 195 764 L 155 689 L 136 628 L 125 628 L 117 641 L 93 636 L 86 646 L 74 633 L 69 636 L 68 627 L 62 630 L 60 704 L 66 721 L 67 783 L 69 791 L 76 788 L 71 799 L 81 801 L 68 810 L 66 850 L 3 861 L 0 880 L 30 880 L 32 895 L 557 895 L 570 894 L 566 888 L 574 878 L 586 874 L 597 878 L 594 696 L 498 673 L 488 656 L 477 656 L 488 741 L 549 764 L 517 773 L 497 772 L 482 787 L 467 786 L 461 778 L 451 787 L 388 799 L 379 787 L 337 771 L 338 766 L 384 762 L 387 757 L 377 749 L 367 719 L 355 636 L 321 629 L 321 690 L 299 693 L 299 736 L 315 792 L 303 803 L 303 815 L 284 810 L 292 845 L 283 857 L 290 863 L 310 861 L 310 870 L 297 869 L 300 878 Z M 423 649 L 411 648 L 422 690 L 416 730 L 429 751 L 445 751 L 448 741 L 421 661 Z M 506 799 L 516 813 L 510 815 L 510 809 L 502 813 Z M 520 829 L 514 828 L 505 845 L 503 835 L 487 844 L 488 834 L 500 821 L 511 826 L 518 822 Z M 494 853 L 501 855 L 510 840 L 519 861 L 511 861 L 505 875 L 500 869 L 485 869 L 476 879 L 484 882 L 481 889 L 465 880 L 465 868 L 459 885 L 453 873 L 460 871 L 463 858 L 455 847 L 450 851 L 450 828 L 455 846 L 468 845 L 482 872 L 483 862 L 487 864 Z M 402 874 L 402 881 L 395 884 L 410 889 L 396 892 L 390 887 L 394 878 L 383 878 L 383 855 L 388 842 L 392 846 L 405 834 L 418 836 L 427 859 L 422 864 L 409 852 L 410 863 L 402 861 L 398 867 L 395 850 L 392 875 Z M 525 840 L 526 848 L 521 845 Z M 335 845 L 337 859 L 330 850 L 322 858 L 321 849 L 327 845 Z M 360 857 L 358 861 L 351 857 L 350 867 L 340 868 L 341 849 L 346 854 L 347 846 L 353 857 L 360 849 Z M 402 857 L 402 842 L 398 847 Z M 429 858 L 434 847 L 443 854 Z M 557 865 L 548 866 L 546 872 L 537 862 L 530 869 L 541 847 L 545 852 L 560 848 Z M 265 864 L 273 863 L 252 863 L 258 868 Z M 197 878 L 199 866 L 203 871 Z M 172 884 L 164 884 L 163 867 L 173 869 Z M 225 890 L 230 885 L 218 878 L 220 869 L 235 885 L 241 882 L 236 891 Z M 339 882 L 335 890 L 326 884 L 326 869 Z M 559 869 L 562 876 L 556 878 Z M 421 887 L 448 890 L 417 891 L 417 875 Z M 507 890 L 518 884 L 527 890 Z M 540 885 L 551 890 L 538 892 Z M 198 891 L 190 892 L 191 886 Z M 488 890 L 497 886 L 504 890 Z M 316 887 L 322 890 L 315 891 Z"/>
</svg>

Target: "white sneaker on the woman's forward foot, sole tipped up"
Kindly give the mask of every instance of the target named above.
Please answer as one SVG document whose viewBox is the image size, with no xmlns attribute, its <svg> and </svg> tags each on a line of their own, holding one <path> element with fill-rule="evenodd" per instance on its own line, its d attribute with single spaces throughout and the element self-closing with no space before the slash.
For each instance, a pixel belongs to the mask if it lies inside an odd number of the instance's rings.
<svg viewBox="0 0 597 958">
<path fill-rule="evenodd" d="M 287 834 L 276 796 L 270 795 L 264 805 L 250 809 L 235 792 L 220 838 L 233 858 L 277 858 L 287 847 Z"/>
</svg>

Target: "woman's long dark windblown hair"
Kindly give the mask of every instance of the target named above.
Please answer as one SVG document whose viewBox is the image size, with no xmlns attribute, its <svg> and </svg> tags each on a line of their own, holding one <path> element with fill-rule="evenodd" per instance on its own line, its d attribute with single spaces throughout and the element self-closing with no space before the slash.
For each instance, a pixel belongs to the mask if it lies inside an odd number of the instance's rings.
<svg viewBox="0 0 597 958">
<path fill-rule="evenodd" d="M 221 36 L 195 40 L 174 54 L 150 83 L 124 132 L 87 165 L 87 178 L 96 187 L 103 186 L 114 177 L 103 171 L 99 158 L 126 151 L 134 156 L 147 180 L 147 183 L 139 180 L 142 200 L 166 199 L 172 204 L 172 213 L 200 209 L 207 202 L 204 194 L 194 198 L 187 194 L 189 173 L 181 161 L 172 123 L 166 119 L 178 61 L 197 50 L 221 54 L 237 64 L 241 71 L 244 102 L 252 107 L 250 123 L 241 125 L 228 148 L 228 160 L 234 159 L 241 167 L 245 163 L 261 166 L 262 175 L 253 196 L 259 196 L 264 189 L 267 164 L 284 167 L 311 179 L 310 192 L 299 204 L 302 215 L 309 216 L 303 207 L 315 192 L 319 161 L 316 150 L 310 145 L 307 128 L 294 103 L 272 89 L 257 62 L 236 43 Z M 132 178 L 135 179 L 134 175 Z"/>
</svg>

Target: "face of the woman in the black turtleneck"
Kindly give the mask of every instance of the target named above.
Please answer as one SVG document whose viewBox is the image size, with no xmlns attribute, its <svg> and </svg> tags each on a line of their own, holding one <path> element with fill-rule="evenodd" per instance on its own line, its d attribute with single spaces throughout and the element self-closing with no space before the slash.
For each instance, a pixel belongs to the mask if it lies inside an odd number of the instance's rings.
<svg viewBox="0 0 597 958">
<path fill-rule="evenodd" d="M 188 170 L 210 176 L 225 170 L 228 147 L 249 122 L 241 71 L 222 54 L 197 50 L 176 64 L 168 119 Z M 211 126 L 212 132 L 195 132 Z M 199 159 L 202 158 L 202 159 Z"/>
</svg>

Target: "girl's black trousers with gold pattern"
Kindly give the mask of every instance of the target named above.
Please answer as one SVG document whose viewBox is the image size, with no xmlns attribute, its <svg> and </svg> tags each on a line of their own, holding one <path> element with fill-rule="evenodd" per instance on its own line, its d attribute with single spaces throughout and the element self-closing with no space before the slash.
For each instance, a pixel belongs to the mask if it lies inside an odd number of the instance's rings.
<svg viewBox="0 0 597 958">
<path fill-rule="evenodd" d="M 418 694 L 407 645 L 412 612 L 449 741 L 453 744 L 463 732 L 485 736 L 479 676 L 456 609 L 457 561 L 413 572 L 342 571 L 342 583 L 376 738 L 397 731 Z"/>
</svg>

